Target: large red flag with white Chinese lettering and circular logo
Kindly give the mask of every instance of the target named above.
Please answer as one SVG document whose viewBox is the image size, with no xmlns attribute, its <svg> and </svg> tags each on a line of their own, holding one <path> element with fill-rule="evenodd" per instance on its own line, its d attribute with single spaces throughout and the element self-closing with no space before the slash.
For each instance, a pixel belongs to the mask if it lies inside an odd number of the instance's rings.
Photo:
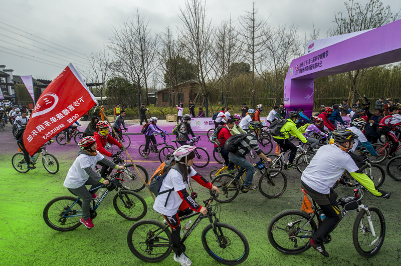
<svg viewBox="0 0 401 266">
<path fill-rule="evenodd" d="M 97 101 L 70 63 L 42 93 L 24 132 L 24 145 L 33 155 L 53 136 L 67 128 Z"/>
</svg>

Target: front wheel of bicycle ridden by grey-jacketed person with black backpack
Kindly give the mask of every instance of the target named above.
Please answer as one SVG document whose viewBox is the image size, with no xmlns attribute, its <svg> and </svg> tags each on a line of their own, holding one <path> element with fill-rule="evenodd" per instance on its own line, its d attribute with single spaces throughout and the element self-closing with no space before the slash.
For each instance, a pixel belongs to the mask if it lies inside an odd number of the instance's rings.
<svg viewBox="0 0 401 266">
<path fill-rule="evenodd" d="M 259 191 L 267 198 L 277 198 L 287 188 L 287 177 L 278 170 L 270 170 L 259 179 Z"/>
</svg>

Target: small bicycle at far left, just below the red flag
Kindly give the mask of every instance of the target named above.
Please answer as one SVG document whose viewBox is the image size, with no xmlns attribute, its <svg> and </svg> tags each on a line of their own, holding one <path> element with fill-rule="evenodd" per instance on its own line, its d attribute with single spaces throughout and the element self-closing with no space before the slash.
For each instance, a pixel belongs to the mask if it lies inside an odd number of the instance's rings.
<svg viewBox="0 0 401 266">
<path fill-rule="evenodd" d="M 45 167 L 46 171 L 48 171 L 51 174 L 56 174 L 60 169 L 59 161 L 56 159 L 54 155 L 48 153 L 46 150 L 46 145 L 50 145 L 52 143 L 53 140 L 50 140 L 48 143 L 40 147 L 39 150 L 34 155 L 32 156 L 28 155 L 28 156 L 31 160 L 31 164 L 35 165 L 39 159 L 39 155 L 42 154 L 42 164 Z M 17 172 L 26 173 L 30 170 L 28 169 L 28 164 L 25 161 L 24 153 L 19 152 L 14 154 L 11 161 L 14 169 L 16 169 Z"/>
</svg>

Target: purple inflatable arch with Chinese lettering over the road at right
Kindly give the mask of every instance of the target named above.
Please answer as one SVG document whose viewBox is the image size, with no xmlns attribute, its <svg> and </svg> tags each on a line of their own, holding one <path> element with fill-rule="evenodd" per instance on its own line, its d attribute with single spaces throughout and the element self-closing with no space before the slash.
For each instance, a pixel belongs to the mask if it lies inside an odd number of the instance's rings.
<svg viewBox="0 0 401 266">
<path fill-rule="evenodd" d="M 284 81 L 287 111 L 303 108 L 312 115 L 315 78 L 398 61 L 401 20 L 294 59 Z"/>
</svg>

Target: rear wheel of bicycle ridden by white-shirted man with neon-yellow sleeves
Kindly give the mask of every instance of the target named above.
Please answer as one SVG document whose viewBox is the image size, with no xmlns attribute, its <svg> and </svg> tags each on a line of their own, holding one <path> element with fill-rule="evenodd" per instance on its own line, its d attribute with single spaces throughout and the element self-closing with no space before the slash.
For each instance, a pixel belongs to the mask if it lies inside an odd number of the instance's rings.
<svg viewBox="0 0 401 266">
<path fill-rule="evenodd" d="M 267 228 L 269 241 L 274 248 L 286 254 L 298 254 L 309 247 L 309 239 L 317 226 L 310 215 L 300 210 L 285 210 L 277 214 Z M 301 229 L 302 228 L 302 229 Z"/>
</svg>

